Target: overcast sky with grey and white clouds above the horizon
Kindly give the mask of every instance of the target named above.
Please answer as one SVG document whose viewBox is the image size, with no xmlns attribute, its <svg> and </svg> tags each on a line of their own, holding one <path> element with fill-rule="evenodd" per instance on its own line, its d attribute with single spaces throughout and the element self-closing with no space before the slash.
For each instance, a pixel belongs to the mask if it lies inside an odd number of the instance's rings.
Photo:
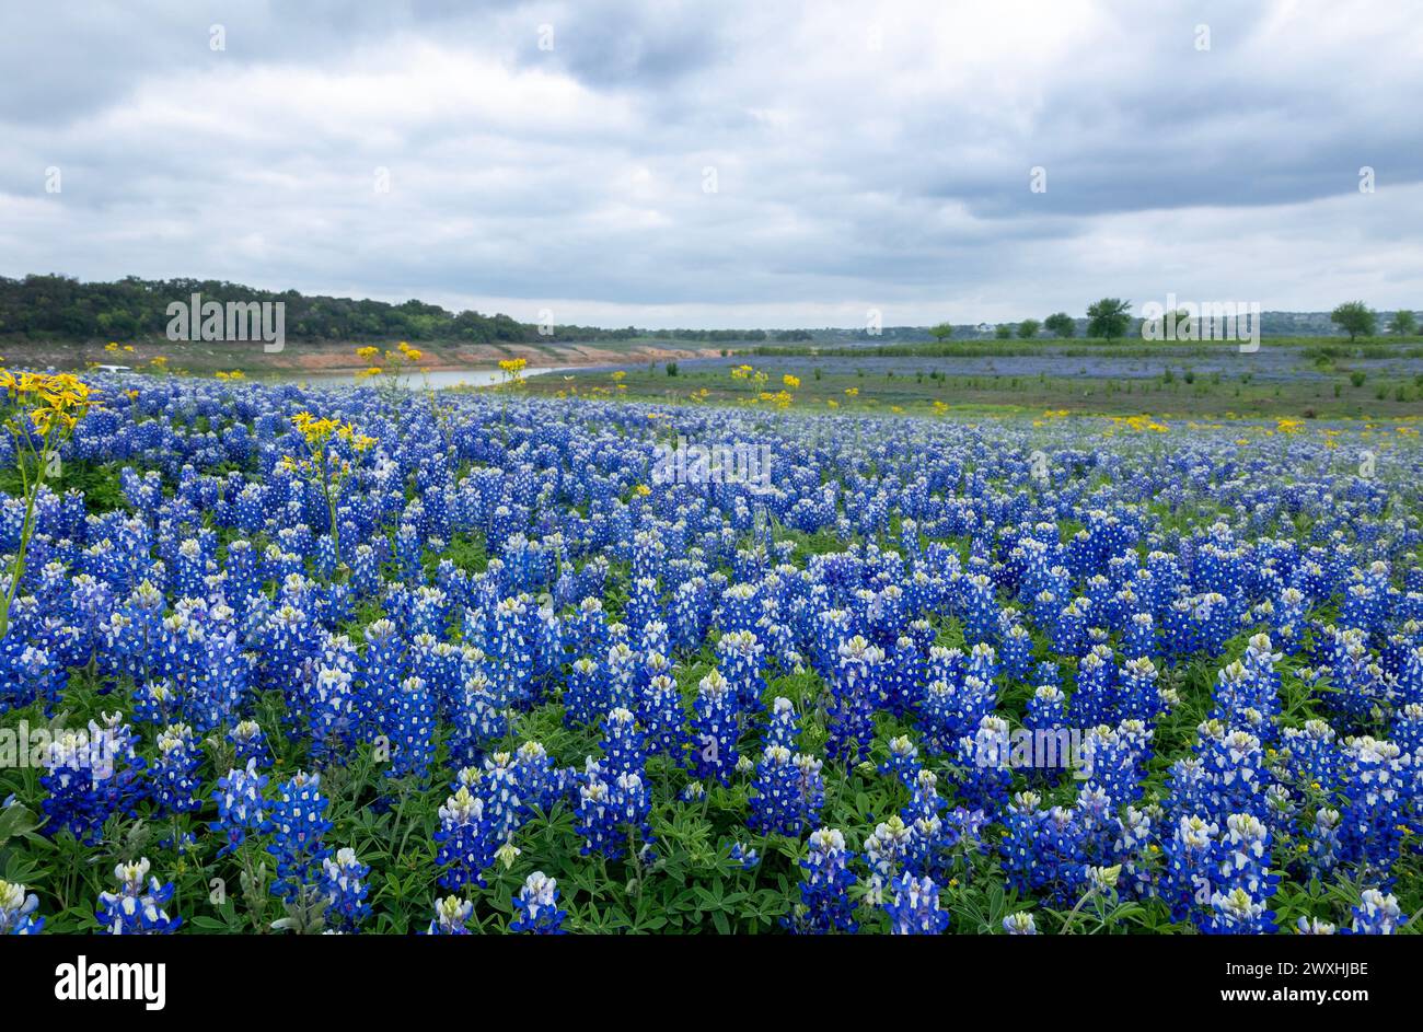
<svg viewBox="0 0 1423 1032">
<path fill-rule="evenodd" d="M 1407 0 L 10 3 L 0 275 L 653 327 L 1423 307 L 1420 54 Z"/>
</svg>

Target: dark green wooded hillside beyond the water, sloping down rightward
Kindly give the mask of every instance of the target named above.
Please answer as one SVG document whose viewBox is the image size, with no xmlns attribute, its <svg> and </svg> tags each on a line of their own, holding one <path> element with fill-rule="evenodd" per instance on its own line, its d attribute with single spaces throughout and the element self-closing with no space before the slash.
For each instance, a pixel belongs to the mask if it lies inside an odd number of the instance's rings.
<svg viewBox="0 0 1423 1032">
<path fill-rule="evenodd" d="M 104 337 L 120 340 L 164 336 L 174 302 L 283 302 L 287 339 L 307 342 L 462 340 L 487 343 L 598 342 L 657 337 L 690 343 L 798 342 L 805 330 L 642 330 L 596 326 L 541 327 L 507 315 L 450 312 L 438 305 L 307 296 L 296 290 L 259 290 L 216 279 L 139 279 L 81 283 L 68 276 L 0 276 L 0 335 L 30 337 Z"/>
</svg>

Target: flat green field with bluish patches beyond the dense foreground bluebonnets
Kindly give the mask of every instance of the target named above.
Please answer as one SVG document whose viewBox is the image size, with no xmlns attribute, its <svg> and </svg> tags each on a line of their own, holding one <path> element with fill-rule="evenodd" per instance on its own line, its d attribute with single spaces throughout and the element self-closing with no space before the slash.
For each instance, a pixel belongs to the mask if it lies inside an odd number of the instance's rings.
<svg viewBox="0 0 1423 1032">
<path fill-rule="evenodd" d="M 795 407 L 951 411 L 1069 410 L 1150 413 L 1197 420 L 1235 417 L 1410 418 L 1423 414 L 1423 357 L 1413 346 L 1375 352 L 1319 344 L 1255 354 L 1174 349 L 1150 357 L 1097 354 L 972 354 L 968 357 L 739 356 L 629 364 L 534 377 L 541 396 L 623 396 L 665 403 L 747 404 L 783 390 Z M 1365 357 L 1366 356 L 1366 357 Z M 740 366 L 764 373 L 733 374 Z M 798 381 L 785 387 L 785 377 Z M 761 399 L 776 404 L 776 400 Z"/>
</svg>

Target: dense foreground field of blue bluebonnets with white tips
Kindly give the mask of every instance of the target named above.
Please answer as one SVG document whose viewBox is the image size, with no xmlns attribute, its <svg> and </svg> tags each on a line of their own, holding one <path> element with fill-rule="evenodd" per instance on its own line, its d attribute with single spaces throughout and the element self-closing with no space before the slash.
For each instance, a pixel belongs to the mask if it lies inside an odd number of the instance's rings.
<svg viewBox="0 0 1423 1032">
<path fill-rule="evenodd" d="M 0 932 L 1423 904 L 1412 426 L 3 376 Z"/>
</svg>

